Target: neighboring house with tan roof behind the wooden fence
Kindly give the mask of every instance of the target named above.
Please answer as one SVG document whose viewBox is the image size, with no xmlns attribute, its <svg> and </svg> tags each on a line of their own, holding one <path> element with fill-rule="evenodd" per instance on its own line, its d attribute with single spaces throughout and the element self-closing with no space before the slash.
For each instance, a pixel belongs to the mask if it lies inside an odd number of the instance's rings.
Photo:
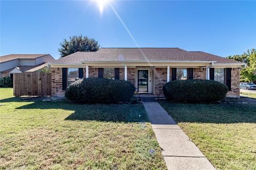
<svg viewBox="0 0 256 170">
<path fill-rule="evenodd" d="M 13 73 L 35 72 L 55 59 L 50 54 L 10 54 L 0 56 L 0 78 Z"/>
</svg>

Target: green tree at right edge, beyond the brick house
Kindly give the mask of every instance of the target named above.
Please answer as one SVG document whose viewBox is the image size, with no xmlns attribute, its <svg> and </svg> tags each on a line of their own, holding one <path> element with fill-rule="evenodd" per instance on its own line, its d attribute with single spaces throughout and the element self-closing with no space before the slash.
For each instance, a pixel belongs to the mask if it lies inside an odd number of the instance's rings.
<svg viewBox="0 0 256 170">
<path fill-rule="evenodd" d="M 256 81 L 256 50 L 254 48 L 247 50 L 247 52 L 242 55 L 233 55 L 228 56 L 227 58 L 247 64 L 246 67 L 241 70 L 241 81 Z"/>
</svg>

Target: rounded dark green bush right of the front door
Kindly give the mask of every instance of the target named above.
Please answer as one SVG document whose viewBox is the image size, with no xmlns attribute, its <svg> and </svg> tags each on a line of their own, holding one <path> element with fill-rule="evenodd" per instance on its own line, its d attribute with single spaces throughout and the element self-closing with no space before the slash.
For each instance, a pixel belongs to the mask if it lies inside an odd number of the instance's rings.
<svg viewBox="0 0 256 170">
<path fill-rule="evenodd" d="M 198 103 L 222 100 L 228 87 L 213 80 L 176 80 L 167 82 L 163 90 L 167 100 Z"/>
</svg>

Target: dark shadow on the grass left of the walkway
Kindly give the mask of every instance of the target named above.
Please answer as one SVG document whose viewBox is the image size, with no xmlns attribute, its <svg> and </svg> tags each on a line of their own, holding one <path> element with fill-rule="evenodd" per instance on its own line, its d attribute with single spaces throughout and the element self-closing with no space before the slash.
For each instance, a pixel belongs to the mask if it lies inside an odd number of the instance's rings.
<svg viewBox="0 0 256 170">
<path fill-rule="evenodd" d="M 147 122 L 145 109 L 141 104 L 75 104 L 68 102 L 35 101 L 17 109 L 65 109 L 74 111 L 65 118 L 70 121 L 102 122 Z M 59 111 L 50 111 L 54 112 Z"/>
</svg>

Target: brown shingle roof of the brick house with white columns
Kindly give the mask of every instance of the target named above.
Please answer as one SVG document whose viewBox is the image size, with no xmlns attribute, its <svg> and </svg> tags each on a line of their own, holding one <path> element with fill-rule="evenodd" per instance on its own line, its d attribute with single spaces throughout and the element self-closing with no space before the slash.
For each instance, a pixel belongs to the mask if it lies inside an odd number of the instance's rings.
<svg viewBox="0 0 256 170">
<path fill-rule="evenodd" d="M 82 63 L 83 61 L 217 61 L 241 63 L 204 52 L 188 52 L 180 48 L 101 48 L 97 52 L 76 52 L 53 63 Z"/>
</svg>

